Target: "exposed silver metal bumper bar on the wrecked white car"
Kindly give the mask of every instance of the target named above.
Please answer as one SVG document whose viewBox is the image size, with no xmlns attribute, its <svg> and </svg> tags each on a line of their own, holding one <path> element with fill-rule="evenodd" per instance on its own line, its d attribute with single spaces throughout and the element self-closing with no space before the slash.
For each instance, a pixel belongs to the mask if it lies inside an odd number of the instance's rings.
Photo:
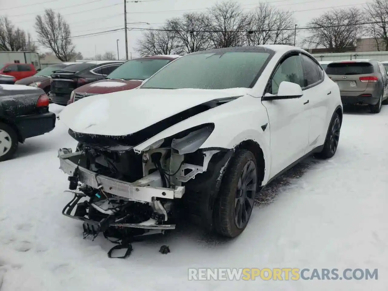
<svg viewBox="0 0 388 291">
<path fill-rule="evenodd" d="M 78 161 L 81 155 L 82 152 L 73 153 L 71 149 L 59 149 L 59 168 L 64 173 L 73 175 L 77 168 L 77 162 L 74 161 Z M 134 201 L 152 202 L 156 200 L 156 197 L 166 199 L 182 198 L 185 192 L 184 186 L 175 186 L 175 189 L 147 186 L 149 185 L 149 180 L 144 178 L 128 183 L 104 175 L 97 175 L 94 171 L 87 170 L 81 166 L 78 167 L 78 180 L 81 183 L 96 189 L 101 185 L 107 193 Z"/>
</svg>

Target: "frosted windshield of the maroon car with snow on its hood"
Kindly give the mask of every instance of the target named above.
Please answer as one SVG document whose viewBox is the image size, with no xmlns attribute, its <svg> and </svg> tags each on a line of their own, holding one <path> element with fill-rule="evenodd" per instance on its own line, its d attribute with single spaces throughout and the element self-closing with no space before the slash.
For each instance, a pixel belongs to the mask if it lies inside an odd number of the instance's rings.
<svg viewBox="0 0 388 291">
<path fill-rule="evenodd" d="M 138 59 L 125 62 L 107 76 L 107 79 L 145 80 L 163 68 L 169 59 Z"/>
</svg>

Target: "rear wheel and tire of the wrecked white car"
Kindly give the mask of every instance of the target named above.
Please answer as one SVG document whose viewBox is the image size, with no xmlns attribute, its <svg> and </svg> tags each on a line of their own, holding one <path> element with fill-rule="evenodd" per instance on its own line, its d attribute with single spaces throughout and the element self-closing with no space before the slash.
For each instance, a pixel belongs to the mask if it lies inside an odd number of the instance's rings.
<svg viewBox="0 0 388 291">
<path fill-rule="evenodd" d="M 321 159 L 329 159 L 334 156 L 340 141 L 341 120 L 338 113 L 334 113 L 327 129 L 326 140 L 321 152 L 315 156 Z"/>
</svg>

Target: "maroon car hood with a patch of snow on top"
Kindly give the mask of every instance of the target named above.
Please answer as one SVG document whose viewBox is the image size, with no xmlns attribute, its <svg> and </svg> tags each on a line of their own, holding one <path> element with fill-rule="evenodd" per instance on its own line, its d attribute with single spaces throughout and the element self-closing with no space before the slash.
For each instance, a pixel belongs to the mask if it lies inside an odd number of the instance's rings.
<svg viewBox="0 0 388 291">
<path fill-rule="evenodd" d="M 83 85 L 74 90 L 75 93 L 106 94 L 123 90 L 130 90 L 141 85 L 138 80 L 99 80 Z"/>
</svg>

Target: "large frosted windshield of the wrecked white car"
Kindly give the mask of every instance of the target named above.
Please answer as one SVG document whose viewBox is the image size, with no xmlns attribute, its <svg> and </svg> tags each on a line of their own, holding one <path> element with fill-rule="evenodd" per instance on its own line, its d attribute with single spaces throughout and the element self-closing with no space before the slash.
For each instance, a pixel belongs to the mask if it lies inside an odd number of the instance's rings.
<svg viewBox="0 0 388 291">
<path fill-rule="evenodd" d="M 269 52 L 211 52 L 180 57 L 141 88 L 250 88 Z"/>
</svg>

